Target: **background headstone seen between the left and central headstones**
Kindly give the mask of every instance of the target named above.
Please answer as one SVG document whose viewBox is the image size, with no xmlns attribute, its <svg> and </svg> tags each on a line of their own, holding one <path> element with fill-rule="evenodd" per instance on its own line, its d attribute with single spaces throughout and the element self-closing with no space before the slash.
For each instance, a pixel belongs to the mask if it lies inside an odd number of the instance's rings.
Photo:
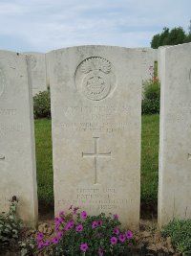
<svg viewBox="0 0 191 256">
<path fill-rule="evenodd" d="M 31 62 L 32 96 L 48 87 L 46 55 L 41 53 L 25 53 Z"/>
</svg>

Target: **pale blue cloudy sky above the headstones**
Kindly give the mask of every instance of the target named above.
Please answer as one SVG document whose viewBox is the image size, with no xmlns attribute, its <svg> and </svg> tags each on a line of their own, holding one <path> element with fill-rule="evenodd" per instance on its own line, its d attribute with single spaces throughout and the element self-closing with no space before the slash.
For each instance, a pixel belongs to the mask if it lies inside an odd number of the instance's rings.
<svg viewBox="0 0 191 256">
<path fill-rule="evenodd" d="M 188 32 L 191 0 L 0 0 L 0 50 L 150 47 L 164 27 Z"/>
</svg>

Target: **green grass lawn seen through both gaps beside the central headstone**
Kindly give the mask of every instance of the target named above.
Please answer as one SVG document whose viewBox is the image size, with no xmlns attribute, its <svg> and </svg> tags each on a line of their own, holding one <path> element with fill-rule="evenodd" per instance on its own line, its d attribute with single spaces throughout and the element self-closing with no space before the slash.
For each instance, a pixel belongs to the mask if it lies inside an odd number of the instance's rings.
<svg viewBox="0 0 191 256">
<path fill-rule="evenodd" d="M 35 120 L 38 198 L 40 205 L 53 205 L 53 157 L 51 120 Z M 142 116 L 141 204 L 157 207 L 159 115 Z M 146 208 L 145 208 L 146 207 Z"/>
</svg>

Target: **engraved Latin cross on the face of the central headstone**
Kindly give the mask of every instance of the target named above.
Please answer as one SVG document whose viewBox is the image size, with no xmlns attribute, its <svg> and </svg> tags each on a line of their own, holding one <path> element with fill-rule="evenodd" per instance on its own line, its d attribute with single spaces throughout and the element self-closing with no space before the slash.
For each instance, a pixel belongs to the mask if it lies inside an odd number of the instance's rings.
<svg viewBox="0 0 191 256">
<path fill-rule="evenodd" d="M 93 137 L 95 139 L 95 152 L 91 153 L 85 153 L 82 152 L 82 157 L 93 157 L 95 161 L 95 184 L 98 184 L 98 173 L 97 173 L 97 158 L 98 157 L 110 157 L 111 156 L 111 151 L 110 152 L 98 152 L 98 139 L 99 137 Z"/>
</svg>

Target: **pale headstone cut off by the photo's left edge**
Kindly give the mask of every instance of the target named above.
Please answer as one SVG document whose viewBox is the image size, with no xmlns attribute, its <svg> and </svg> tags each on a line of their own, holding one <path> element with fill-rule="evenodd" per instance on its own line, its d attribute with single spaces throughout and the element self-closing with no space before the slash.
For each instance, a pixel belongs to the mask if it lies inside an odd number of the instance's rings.
<svg viewBox="0 0 191 256">
<path fill-rule="evenodd" d="M 0 212 L 18 198 L 18 214 L 37 221 L 32 86 L 25 55 L 0 51 Z"/>
</svg>

